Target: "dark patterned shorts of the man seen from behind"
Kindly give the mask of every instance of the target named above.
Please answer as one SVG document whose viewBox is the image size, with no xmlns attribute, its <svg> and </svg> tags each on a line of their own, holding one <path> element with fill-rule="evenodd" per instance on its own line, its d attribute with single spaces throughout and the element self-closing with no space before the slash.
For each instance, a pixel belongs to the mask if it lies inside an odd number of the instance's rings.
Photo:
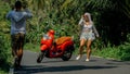
<svg viewBox="0 0 130 74">
<path fill-rule="evenodd" d="M 13 49 L 23 49 L 25 34 L 18 33 L 11 35 L 11 46 Z"/>
</svg>

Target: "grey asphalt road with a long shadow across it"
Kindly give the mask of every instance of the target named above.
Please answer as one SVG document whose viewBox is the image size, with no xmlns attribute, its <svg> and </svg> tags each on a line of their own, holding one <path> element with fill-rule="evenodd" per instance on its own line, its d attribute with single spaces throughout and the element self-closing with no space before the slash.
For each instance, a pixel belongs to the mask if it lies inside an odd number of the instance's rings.
<svg viewBox="0 0 130 74">
<path fill-rule="evenodd" d="M 41 63 L 37 63 L 37 54 L 24 51 L 23 67 L 14 70 L 14 74 L 130 74 L 130 61 L 121 62 L 91 57 L 91 60 L 86 62 L 86 55 L 79 61 L 76 61 L 76 55 L 73 55 L 69 61 L 44 58 Z"/>
</svg>

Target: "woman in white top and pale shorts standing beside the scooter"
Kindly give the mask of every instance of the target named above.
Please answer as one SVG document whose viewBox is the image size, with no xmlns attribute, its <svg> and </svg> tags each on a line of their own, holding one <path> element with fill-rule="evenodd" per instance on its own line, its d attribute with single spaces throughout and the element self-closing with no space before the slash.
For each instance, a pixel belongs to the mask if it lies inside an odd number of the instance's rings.
<svg viewBox="0 0 130 74">
<path fill-rule="evenodd" d="M 80 46 L 79 46 L 79 55 L 76 60 L 79 60 L 82 57 L 83 46 L 87 42 L 87 59 L 86 61 L 90 60 L 91 54 L 91 44 L 95 39 L 95 36 L 99 37 L 99 33 L 95 29 L 93 22 L 91 21 L 90 13 L 84 13 L 79 21 L 79 25 L 81 27 L 80 32 Z"/>
</svg>

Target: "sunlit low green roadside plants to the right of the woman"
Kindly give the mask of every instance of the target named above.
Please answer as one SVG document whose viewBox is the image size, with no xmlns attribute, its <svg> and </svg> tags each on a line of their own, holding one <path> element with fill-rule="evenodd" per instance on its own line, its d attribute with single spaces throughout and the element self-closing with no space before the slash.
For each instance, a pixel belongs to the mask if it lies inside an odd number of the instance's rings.
<svg viewBox="0 0 130 74">
<path fill-rule="evenodd" d="M 130 44 L 118 47 L 107 47 L 102 50 L 93 50 L 93 55 L 109 58 L 120 61 L 130 61 Z"/>
</svg>

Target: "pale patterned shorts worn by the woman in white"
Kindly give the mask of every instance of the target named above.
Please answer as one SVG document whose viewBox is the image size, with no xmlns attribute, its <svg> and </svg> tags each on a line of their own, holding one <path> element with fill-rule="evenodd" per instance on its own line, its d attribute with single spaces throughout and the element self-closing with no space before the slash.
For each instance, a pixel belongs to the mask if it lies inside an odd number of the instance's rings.
<svg viewBox="0 0 130 74">
<path fill-rule="evenodd" d="M 84 40 L 94 40 L 95 39 L 95 36 L 94 36 L 94 33 L 81 33 L 80 35 L 80 40 L 81 39 L 84 39 Z"/>
</svg>

